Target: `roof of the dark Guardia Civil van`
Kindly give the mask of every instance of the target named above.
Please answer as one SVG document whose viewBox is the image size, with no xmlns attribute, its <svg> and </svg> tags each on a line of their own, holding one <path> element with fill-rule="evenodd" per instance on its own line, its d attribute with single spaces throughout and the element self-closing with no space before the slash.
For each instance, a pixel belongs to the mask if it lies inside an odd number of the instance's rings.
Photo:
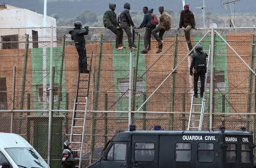
<svg viewBox="0 0 256 168">
<path fill-rule="evenodd" d="M 117 136 L 114 138 L 114 141 L 127 141 L 131 140 L 131 135 L 193 135 L 193 134 L 204 134 L 204 135 L 217 135 L 217 134 L 236 134 L 236 135 L 243 135 L 243 136 L 252 136 L 251 133 L 246 131 L 225 131 L 224 133 L 221 133 L 221 131 L 149 131 L 149 130 L 137 130 L 137 131 L 123 131 L 117 134 Z"/>
</svg>

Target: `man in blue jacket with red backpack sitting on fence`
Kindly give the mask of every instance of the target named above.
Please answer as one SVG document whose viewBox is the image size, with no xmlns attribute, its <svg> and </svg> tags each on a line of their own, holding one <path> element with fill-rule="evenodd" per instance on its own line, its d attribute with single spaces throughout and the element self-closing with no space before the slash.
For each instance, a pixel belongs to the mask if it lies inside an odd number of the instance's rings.
<svg viewBox="0 0 256 168">
<path fill-rule="evenodd" d="M 138 27 L 138 29 L 145 27 L 146 26 L 146 30 L 145 30 L 145 35 L 144 35 L 144 50 L 141 51 L 142 54 L 147 53 L 149 50 L 151 50 L 150 44 L 151 44 L 151 32 L 153 29 L 155 29 L 156 26 L 153 26 L 151 24 L 151 13 L 153 13 L 153 9 L 150 8 L 148 10 L 148 7 L 143 7 L 142 9 L 143 13 L 144 13 L 144 19 L 142 21 L 142 23 L 140 24 L 140 26 Z"/>
</svg>

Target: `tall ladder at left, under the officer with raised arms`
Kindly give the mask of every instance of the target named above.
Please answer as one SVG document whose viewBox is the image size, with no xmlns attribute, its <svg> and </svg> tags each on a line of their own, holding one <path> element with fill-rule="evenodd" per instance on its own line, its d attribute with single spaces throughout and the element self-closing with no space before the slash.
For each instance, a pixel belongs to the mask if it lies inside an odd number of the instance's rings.
<svg viewBox="0 0 256 168">
<path fill-rule="evenodd" d="M 89 61 L 88 61 L 89 59 Z M 76 90 L 76 99 L 74 101 L 73 108 L 73 117 L 72 117 L 72 125 L 71 125 L 71 133 L 70 133 L 70 143 L 76 147 L 76 151 L 78 153 L 78 158 L 76 157 L 76 164 L 79 161 L 79 165 L 76 167 L 81 167 L 81 158 L 83 154 L 83 140 L 84 140 L 84 132 L 86 125 L 86 113 L 88 106 L 88 95 L 89 95 L 89 86 L 90 86 L 90 77 L 91 77 L 91 68 L 92 68 L 92 52 L 91 56 L 87 57 L 87 64 L 90 67 L 89 73 L 78 73 L 78 82 L 77 82 L 77 90 Z M 85 108 L 85 110 L 81 110 Z M 79 110 L 77 110 L 79 109 Z M 80 152 L 80 153 L 79 153 Z"/>
</svg>

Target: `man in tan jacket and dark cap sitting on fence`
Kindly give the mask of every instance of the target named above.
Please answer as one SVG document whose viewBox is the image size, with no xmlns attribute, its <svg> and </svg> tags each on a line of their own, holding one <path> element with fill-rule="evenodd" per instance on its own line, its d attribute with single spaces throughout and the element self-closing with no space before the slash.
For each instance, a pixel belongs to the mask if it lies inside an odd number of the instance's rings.
<svg viewBox="0 0 256 168">
<path fill-rule="evenodd" d="M 156 41 L 158 41 L 158 50 L 156 53 L 162 52 L 164 32 L 169 30 L 172 24 L 172 17 L 164 11 L 163 6 L 160 6 L 158 11 L 161 13 L 159 25 L 154 30 L 152 30 L 152 35 L 155 37 Z M 157 32 L 159 32 L 159 35 L 156 34 Z"/>
</svg>

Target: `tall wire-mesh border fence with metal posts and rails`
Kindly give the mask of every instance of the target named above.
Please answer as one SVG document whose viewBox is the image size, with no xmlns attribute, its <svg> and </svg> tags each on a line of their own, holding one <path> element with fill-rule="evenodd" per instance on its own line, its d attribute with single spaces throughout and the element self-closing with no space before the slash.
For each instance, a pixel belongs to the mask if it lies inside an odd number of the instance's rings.
<svg viewBox="0 0 256 168">
<path fill-rule="evenodd" d="M 70 137 L 76 96 L 78 55 L 68 34 L 72 29 L 0 29 L 0 131 L 20 134 L 52 168 L 60 166 L 62 143 Z M 83 167 L 100 157 L 115 134 L 128 130 L 129 114 L 137 130 L 154 125 L 161 125 L 164 130 L 187 128 L 193 78 L 189 75 L 192 59 L 184 31 L 166 31 L 163 51 L 158 54 L 154 38 L 151 50 L 140 53 L 144 49 L 144 32 L 136 30 L 138 47 L 132 55 L 130 113 L 130 51 L 126 34 L 123 44 L 127 48 L 120 51 L 115 50 L 115 35 L 108 29 L 90 28 L 85 36 L 87 56 L 91 52 L 93 55 L 93 68 Z M 255 143 L 255 36 L 254 28 L 191 30 L 193 46 L 204 37 L 203 50 L 208 52 L 211 45 L 213 51 L 202 130 L 245 127 L 254 135 Z"/>
</svg>

